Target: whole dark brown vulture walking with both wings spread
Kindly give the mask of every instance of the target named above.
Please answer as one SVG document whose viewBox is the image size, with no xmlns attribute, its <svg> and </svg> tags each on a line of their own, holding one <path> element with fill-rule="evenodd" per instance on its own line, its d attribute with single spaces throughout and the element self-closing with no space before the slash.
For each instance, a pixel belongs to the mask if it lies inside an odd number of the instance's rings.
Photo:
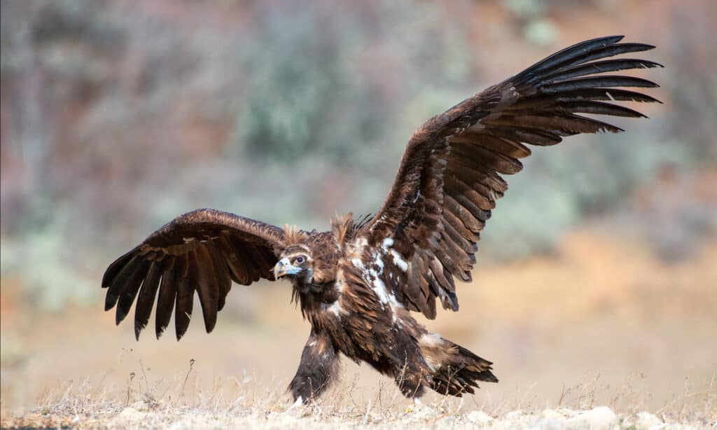
<svg viewBox="0 0 717 430">
<path fill-rule="evenodd" d="M 280 228 L 197 209 L 177 216 L 110 264 L 105 310 L 119 324 L 136 302 L 137 338 L 153 307 L 159 337 L 174 310 L 176 338 L 199 296 L 204 327 L 217 323 L 235 282 L 288 280 L 311 331 L 288 390 L 297 403 L 320 396 L 341 355 L 394 378 L 408 398 L 427 389 L 474 393 L 498 382 L 489 360 L 430 333 L 412 312 L 458 310 L 456 280 L 470 282 L 476 243 L 503 197 L 503 176 L 521 171 L 529 145 L 578 133 L 623 131 L 588 115 L 639 118 L 616 102 L 659 102 L 626 87 L 657 87 L 615 74 L 662 65 L 617 57 L 654 48 L 591 39 L 563 49 L 427 120 L 409 138 L 388 196 L 373 216 L 336 216 L 331 231 Z M 646 117 L 645 117 L 646 118 Z"/>
</svg>

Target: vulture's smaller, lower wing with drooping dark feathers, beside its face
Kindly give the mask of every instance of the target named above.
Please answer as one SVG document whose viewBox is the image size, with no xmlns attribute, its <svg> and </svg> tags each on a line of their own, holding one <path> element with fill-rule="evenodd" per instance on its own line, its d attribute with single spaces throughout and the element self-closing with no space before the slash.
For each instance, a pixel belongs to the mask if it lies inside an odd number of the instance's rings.
<svg viewBox="0 0 717 430">
<path fill-rule="evenodd" d="M 157 338 L 176 307 L 179 340 L 189 327 L 196 290 L 209 333 L 232 281 L 250 285 L 260 278 L 274 280 L 275 250 L 282 247 L 283 236 L 279 227 L 213 209 L 178 216 L 110 264 L 102 279 L 102 287 L 108 289 L 105 310 L 117 305 L 119 324 L 137 298 L 135 335 L 139 338 L 157 296 Z"/>
</svg>

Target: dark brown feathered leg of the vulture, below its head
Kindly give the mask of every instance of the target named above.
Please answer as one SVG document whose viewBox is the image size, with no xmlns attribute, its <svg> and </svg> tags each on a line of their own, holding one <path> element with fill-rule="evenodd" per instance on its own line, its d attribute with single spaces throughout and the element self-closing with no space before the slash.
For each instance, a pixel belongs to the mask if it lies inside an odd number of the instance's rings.
<svg viewBox="0 0 717 430">
<path fill-rule="evenodd" d="M 338 371 L 338 353 L 326 333 L 315 333 L 306 341 L 296 376 L 289 384 L 294 400 L 306 403 L 329 386 Z"/>
</svg>

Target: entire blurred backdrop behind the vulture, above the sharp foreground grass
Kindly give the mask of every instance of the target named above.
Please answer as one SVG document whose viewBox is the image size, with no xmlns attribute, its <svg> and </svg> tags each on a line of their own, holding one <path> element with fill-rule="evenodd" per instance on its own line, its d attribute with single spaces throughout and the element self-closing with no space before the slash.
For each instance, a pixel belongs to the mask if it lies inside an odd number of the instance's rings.
<svg viewBox="0 0 717 430">
<path fill-rule="evenodd" d="M 288 283 L 234 286 L 212 335 L 195 322 L 179 344 L 136 343 L 102 310 L 105 267 L 199 207 L 303 229 L 376 211 L 424 120 L 607 34 L 657 46 L 640 56 L 665 69 L 639 75 L 664 104 L 611 120 L 627 133 L 536 149 L 507 178 L 461 312 L 429 328 L 495 362 L 477 405 L 599 387 L 659 410 L 717 389 L 714 1 L 0 6 L 4 411 L 68 381 L 136 383 L 140 365 L 183 378 L 190 359 L 210 385 L 288 383 L 309 330 Z M 389 383 L 346 368 L 367 396 Z"/>
</svg>

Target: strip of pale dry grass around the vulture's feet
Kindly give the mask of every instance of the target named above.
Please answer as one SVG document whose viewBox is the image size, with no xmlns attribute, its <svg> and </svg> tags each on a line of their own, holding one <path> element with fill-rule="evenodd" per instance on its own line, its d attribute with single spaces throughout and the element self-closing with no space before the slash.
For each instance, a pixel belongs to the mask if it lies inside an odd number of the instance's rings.
<svg viewBox="0 0 717 430">
<path fill-rule="evenodd" d="M 600 416 L 584 421 L 599 408 L 595 398 L 608 393 L 632 407 L 618 410 L 610 421 L 622 428 L 709 427 L 717 424 L 717 374 L 707 391 L 691 391 L 689 384 L 672 401 L 650 414 L 641 411 L 639 391 L 630 381 L 610 389 L 599 378 L 565 388 L 550 405 L 536 403 L 530 391 L 523 398 L 475 403 L 475 398 L 432 396 L 414 405 L 392 384 L 381 383 L 373 392 L 357 390 L 358 376 L 331 389 L 328 396 L 308 406 L 293 406 L 285 395 L 285 383 L 262 383 L 252 376 L 214 379 L 210 389 L 201 388 L 194 362 L 186 373 L 171 381 L 151 382 L 142 365 L 130 373 L 124 385 L 98 390 L 87 381 L 60 384 L 39 400 L 29 414 L 4 413 L 3 427 L 79 428 L 335 428 L 371 426 L 408 429 L 415 426 L 453 428 L 480 425 L 489 428 L 563 428 L 600 426 Z M 597 421 L 594 421 L 596 420 Z"/>
</svg>

